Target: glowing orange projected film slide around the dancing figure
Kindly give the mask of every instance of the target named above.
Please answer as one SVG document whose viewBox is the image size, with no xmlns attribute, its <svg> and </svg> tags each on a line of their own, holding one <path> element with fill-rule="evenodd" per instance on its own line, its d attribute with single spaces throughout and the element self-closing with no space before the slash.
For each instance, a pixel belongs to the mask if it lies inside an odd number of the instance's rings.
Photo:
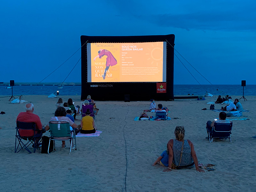
<svg viewBox="0 0 256 192">
<path fill-rule="evenodd" d="M 106 56 L 96 58 L 100 49 L 107 49 L 117 60 L 110 66 L 105 80 Z M 91 44 L 92 82 L 162 82 L 163 42 L 95 43 Z"/>
</svg>

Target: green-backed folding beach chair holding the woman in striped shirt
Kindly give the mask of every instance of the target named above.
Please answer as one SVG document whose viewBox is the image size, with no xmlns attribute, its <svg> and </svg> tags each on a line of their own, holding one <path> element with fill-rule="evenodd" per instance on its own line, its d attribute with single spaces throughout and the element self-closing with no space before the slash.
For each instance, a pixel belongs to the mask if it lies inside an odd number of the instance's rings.
<svg viewBox="0 0 256 192">
<path fill-rule="evenodd" d="M 72 149 L 72 139 L 75 139 L 75 150 L 76 150 L 76 134 L 75 134 L 75 130 L 70 131 L 69 128 L 69 123 L 67 122 L 61 122 L 60 121 L 56 121 L 54 123 L 49 123 L 49 127 L 50 127 L 50 140 L 49 140 L 49 145 L 48 145 L 48 154 L 49 153 L 49 148 L 50 148 L 50 142 L 51 140 L 53 140 L 54 143 L 54 150 L 56 151 L 55 148 L 55 141 L 70 141 L 70 151 L 69 154 L 71 153 L 71 149 Z"/>
</svg>

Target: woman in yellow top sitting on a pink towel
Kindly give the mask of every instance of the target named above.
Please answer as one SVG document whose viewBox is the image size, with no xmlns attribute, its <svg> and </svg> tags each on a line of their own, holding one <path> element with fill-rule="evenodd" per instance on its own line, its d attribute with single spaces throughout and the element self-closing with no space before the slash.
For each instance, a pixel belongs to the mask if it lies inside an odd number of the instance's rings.
<svg viewBox="0 0 256 192">
<path fill-rule="evenodd" d="M 87 109 L 85 112 L 85 115 L 82 120 L 81 120 L 81 129 L 80 133 L 83 134 L 90 134 L 90 133 L 95 133 L 95 125 L 94 125 L 94 119 L 93 117 L 90 116 L 91 112 L 90 109 Z"/>
</svg>

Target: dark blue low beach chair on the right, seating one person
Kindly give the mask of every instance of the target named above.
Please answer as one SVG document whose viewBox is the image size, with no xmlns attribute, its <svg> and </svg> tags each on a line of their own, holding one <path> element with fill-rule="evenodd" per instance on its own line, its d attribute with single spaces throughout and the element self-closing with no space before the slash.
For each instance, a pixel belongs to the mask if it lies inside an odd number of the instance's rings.
<svg viewBox="0 0 256 192">
<path fill-rule="evenodd" d="M 229 139 L 231 143 L 231 130 L 233 126 L 233 122 L 230 120 L 218 120 L 222 121 L 222 123 L 214 123 L 212 127 L 212 132 L 208 132 L 208 138 L 210 143 L 213 141 L 214 138 L 218 139 Z"/>
</svg>

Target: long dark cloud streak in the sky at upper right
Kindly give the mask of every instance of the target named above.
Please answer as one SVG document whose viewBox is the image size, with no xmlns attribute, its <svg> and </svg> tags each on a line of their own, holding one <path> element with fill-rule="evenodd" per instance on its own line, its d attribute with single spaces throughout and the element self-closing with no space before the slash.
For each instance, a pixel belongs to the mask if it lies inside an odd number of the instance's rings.
<svg viewBox="0 0 256 192">
<path fill-rule="evenodd" d="M 255 31 L 256 14 L 254 10 L 196 12 L 184 14 L 134 15 L 160 27 L 183 28 L 186 30 Z"/>
</svg>

